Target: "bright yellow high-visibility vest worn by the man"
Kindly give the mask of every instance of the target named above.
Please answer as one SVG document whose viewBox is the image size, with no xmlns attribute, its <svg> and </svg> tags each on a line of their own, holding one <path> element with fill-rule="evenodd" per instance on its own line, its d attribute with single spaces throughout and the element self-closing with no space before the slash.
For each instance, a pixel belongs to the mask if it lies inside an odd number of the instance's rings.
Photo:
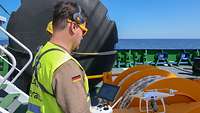
<svg viewBox="0 0 200 113">
<path fill-rule="evenodd" d="M 54 50 L 48 51 L 51 49 Z M 40 57 L 42 54 L 43 56 Z M 38 62 L 37 58 L 39 58 Z M 58 67 L 69 60 L 75 61 L 83 70 L 83 67 L 79 62 L 67 51 L 51 42 L 47 42 L 47 44 L 36 54 L 33 66 L 37 66 L 37 71 L 34 71 L 31 83 L 28 113 L 63 113 L 53 94 L 53 73 Z M 36 63 L 38 65 L 36 65 Z M 89 94 L 88 79 L 86 75 L 84 75 L 83 80 L 85 91 Z M 87 96 L 87 101 L 89 102 L 89 95 Z"/>
</svg>

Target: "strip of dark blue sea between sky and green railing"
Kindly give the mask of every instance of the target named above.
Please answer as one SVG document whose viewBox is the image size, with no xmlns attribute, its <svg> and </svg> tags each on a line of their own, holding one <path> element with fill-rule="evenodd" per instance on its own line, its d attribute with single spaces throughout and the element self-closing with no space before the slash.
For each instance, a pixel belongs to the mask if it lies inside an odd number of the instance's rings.
<svg viewBox="0 0 200 113">
<path fill-rule="evenodd" d="M 200 49 L 200 39 L 119 39 L 116 49 Z"/>
</svg>

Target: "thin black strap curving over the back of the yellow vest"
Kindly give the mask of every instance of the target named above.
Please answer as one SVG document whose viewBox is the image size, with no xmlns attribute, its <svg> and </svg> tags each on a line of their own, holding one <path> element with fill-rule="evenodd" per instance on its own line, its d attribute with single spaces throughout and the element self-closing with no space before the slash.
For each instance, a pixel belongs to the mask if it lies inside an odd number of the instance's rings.
<svg viewBox="0 0 200 113">
<path fill-rule="evenodd" d="M 34 70 L 33 70 L 33 71 L 34 71 L 34 74 L 33 74 L 33 75 L 35 76 L 36 81 L 37 81 L 37 83 L 39 84 L 40 89 L 41 89 L 42 91 L 44 91 L 45 93 L 47 93 L 47 94 L 49 94 L 49 95 L 55 97 L 54 93 L 51 94 L 51 93 L 39 82 L 39 80 L 38 80 L 38 73 L 37 73 L 37 71 L 38 71 L 37 67 L 38 67 L 38 64 L 40 63 L 40 62 L 39 62 L 40 59 L 41 59 L 46 53 L 51 52 L 51 51 L 61 51 L 61 52 L 64 52 L 64 51 L 61 50 L 61 49 L 52 48 L 52 49 L 48 49 L 48 50 L 44 51 L 41 55 L 38 55 L 38 56 L 35 58 L 35 65 L 33 66 L 33 69 L 34 69 Z"/>
</svg>

